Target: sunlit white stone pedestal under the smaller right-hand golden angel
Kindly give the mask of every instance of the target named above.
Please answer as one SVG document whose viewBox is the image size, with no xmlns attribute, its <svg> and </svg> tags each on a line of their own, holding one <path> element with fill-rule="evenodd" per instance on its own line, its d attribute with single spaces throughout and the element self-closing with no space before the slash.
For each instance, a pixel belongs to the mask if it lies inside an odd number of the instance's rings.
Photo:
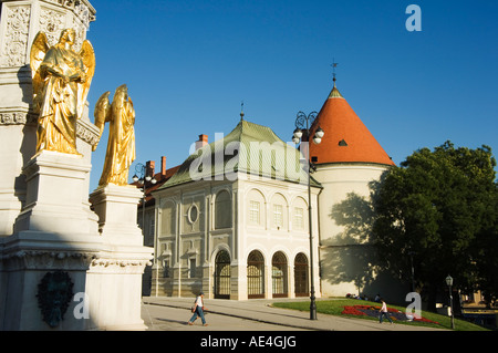
<svg viewBox="0 0 498 353">
<path fill-rule="evenodd" d="M 152 264 L 153 248 L 144 247 L 137 227 L 137 205 L 142 191 L 133 186 L 107 185 L 91 194 L 90 200 L 98 215 L 103 251 L 87 273 L 89 295 L 103 291 L 97 307 L 96 323 L 106 330 L 144 330 L 141 319 L 142 276 Z M 95 294 L 98 297 L 98 293 Z"/>
</svg>

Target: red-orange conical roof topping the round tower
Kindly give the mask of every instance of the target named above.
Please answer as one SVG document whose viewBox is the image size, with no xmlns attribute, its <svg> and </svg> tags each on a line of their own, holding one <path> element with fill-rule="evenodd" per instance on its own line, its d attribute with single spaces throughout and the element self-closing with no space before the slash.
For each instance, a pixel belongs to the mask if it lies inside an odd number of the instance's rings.
<svg viewBox="0 0 498 353">
<path fill-rule="evenodd" d="M 347 104 L 335 86 L 311 126 L 310 136 L 318 127 L 325 135 L 317 145 L 310 143 L 311 157 L 324 163 L 376 163 L 394 165 L 375 137 Z"/>
</svg>

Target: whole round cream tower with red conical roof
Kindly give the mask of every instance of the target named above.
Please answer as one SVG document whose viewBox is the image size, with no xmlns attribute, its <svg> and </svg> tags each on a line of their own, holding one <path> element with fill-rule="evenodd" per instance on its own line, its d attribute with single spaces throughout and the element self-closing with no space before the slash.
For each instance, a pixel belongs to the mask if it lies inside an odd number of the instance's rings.
<svg viewBox="0 0 498 353">
<path fill-rule="evenodd" d="M 321 289 L 324 297 L 375 295 L 377 273 L 369 246 L 369 184 L 394 163 L 335 85 L 311 127 L 321 127 L 321 144 L 310 144 L 321 183 L 319 196 Z M 375 291 L 375 292 L 374 292 Z"/>
</svg>

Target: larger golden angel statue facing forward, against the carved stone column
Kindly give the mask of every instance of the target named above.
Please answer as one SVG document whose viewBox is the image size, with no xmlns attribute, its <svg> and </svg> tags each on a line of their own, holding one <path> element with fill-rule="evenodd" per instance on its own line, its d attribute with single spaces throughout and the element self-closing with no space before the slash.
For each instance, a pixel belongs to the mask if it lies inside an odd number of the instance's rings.
<svg viewBox="0 0 498 353">
<path fill-rule="evenodd" d="M 33 77 L 33 111 L 38 114 L 37 153 L 46 149 L 68 154 L 76 150 L 76 122 L 83 114 L 95 72 L 90 41 L 73 50 L 75 31 L 62 31 L 59 43 L 49 46 L 39 32 L 30 53 Z"/>
</svg>

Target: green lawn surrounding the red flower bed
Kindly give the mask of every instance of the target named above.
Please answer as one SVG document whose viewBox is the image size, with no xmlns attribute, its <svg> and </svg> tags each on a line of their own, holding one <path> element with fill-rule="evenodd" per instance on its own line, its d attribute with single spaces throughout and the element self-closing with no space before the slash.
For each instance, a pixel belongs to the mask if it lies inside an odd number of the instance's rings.
<svg viewBox="0 0 498 353">
<path fill-rule="evenodd" d="M 341 314 L 342 311 L 344 310 L 345 305 L 380 307 L 378 303 L 371 302 L 371 301 L 363 301 L 363 300 L 356 300 L 356 299 L 330 299 L 330 300 L 318 300 L 317 301 L 317 312 L 322 313 L 322 314 L 328 314 L 328 315 L 338 315 L 338 316 L 342 316 L 342 318 L 355 318 L 355 319 L 361 319 L 361 320 L 378 320 L 378 319 L 366 316 L 366 315 Z M 293 309 L 293 310 L 300 310 L 300 311 L 309 311 L 310 302 L 309 301 L 276 302 L 276 303 L 273 303 L 273 307 L 284 308 L 284 309 Z M 406 308 L 404 308 L 404 307 L 390 305 L 390 304 L 387 304 L 387 307 L 397 309 L 401 312 L 406 311 Z M 426 326 L 426 328 L 438 328 L 438 329 L 452 330 L 450 318 L 448 318 L 446 315 L 433 313 L 429 311 L 422 311 L 421 314 L 423 318 L 428 319 L 430 321 L 438 322 L 439 324 L 427 323 L 427 322 L 416 322 L 416 321 L 414 321 L 414 322 L 397 321 L 396 324 L 407 324 L 407 325 L 415 325 L 415 326 Z M 473 324 L 465 320 L 458 320 L 458 319 L 455 319 L 455 330 L 456 331 L 489 331 L 483 326 Z"/>
</svg>

